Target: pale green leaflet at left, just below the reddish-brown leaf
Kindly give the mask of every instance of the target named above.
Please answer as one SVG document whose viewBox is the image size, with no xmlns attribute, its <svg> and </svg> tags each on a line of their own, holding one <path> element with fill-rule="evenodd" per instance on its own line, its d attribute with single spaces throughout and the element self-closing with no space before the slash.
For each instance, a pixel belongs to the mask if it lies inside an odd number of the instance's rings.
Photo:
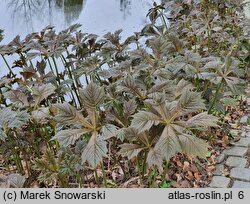
<svg viewBox="0 0 250 204">
<path fill-rule="evenodd" d="M 39 105 L 42 100 L 52 95 L 56 88 L 52 84 L 42 84 L 33 87 L 33 97 L 35 100 L 35 106 Z"/>
</svg>

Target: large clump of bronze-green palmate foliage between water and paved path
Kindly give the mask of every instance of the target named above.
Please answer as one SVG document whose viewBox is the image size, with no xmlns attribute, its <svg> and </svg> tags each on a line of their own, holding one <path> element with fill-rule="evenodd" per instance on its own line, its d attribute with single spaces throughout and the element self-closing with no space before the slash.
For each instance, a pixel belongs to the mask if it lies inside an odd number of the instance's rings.
<svg viewBox="0 0 250 204">
<path fill-rule="evenodd" d="M 199 136 L 209 137 L 213 114 L 249 79 L 242 2 L 166 1 L 148 16 L 125 41 L 121 30 L 100 39 L 76 24 L 0 47 L 9 69 L 0 81 L 0 152 L 27 186 L 110 187 L 111 166 L 126 163 L 153 187 L 157 176 L 166 183 L 176 153 L 209 154 Z M 7 55 L 17 57 L 12 65 Z"/>
</svg>

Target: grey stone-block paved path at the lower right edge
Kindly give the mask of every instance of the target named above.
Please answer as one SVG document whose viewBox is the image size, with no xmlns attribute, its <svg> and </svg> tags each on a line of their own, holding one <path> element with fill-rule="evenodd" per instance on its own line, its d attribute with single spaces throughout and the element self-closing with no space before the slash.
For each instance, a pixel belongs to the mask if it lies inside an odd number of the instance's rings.
<svg viewBox="0 0 250 204">
<path fill-rule="evenodd" d="M 250 110 L 250 88 L 247 92 Z M 232 130 L 239 140 L 230 149 L 224 150 L 216 158 L 216 169 L 210 183 L 212 188 L 250 188 L 250 115 L 240 119 L 241 130 Z M 224 170 L 229 169 L 229 174 Z M 226 175 L 226 176 L 225 176 Z"/>
</svg>

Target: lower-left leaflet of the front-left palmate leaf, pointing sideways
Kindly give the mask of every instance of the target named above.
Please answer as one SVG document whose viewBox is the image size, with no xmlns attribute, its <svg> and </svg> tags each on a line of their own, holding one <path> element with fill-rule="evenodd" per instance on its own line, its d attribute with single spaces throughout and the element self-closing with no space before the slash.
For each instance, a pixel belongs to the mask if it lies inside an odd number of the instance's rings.
<svg viewBox="0 0 250 204">
<path fill-rule="evenodd" d="M 75 144 L 75 142 L 86 133 L 91 132 L 89 129 L 68 129 L 68 130 L 61 130 L 58 132 L 53 138 L 58 139 L 60 146 L 69 146 Z"/>
</svg>

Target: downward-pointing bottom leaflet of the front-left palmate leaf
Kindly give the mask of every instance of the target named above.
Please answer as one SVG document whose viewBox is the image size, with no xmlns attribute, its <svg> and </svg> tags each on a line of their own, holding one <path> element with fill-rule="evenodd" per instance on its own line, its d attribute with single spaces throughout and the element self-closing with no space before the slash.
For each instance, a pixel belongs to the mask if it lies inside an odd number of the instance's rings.
<svg viewBox="0 0 250 204">
<path fill-rule="evenodd" d="M 107 142 L 93 134 L 82 153 L 82 162 L 87 161 L 93 168 L 96 168 L 103 157 L 106 157 L 107 151 Z"/>
</svg>

